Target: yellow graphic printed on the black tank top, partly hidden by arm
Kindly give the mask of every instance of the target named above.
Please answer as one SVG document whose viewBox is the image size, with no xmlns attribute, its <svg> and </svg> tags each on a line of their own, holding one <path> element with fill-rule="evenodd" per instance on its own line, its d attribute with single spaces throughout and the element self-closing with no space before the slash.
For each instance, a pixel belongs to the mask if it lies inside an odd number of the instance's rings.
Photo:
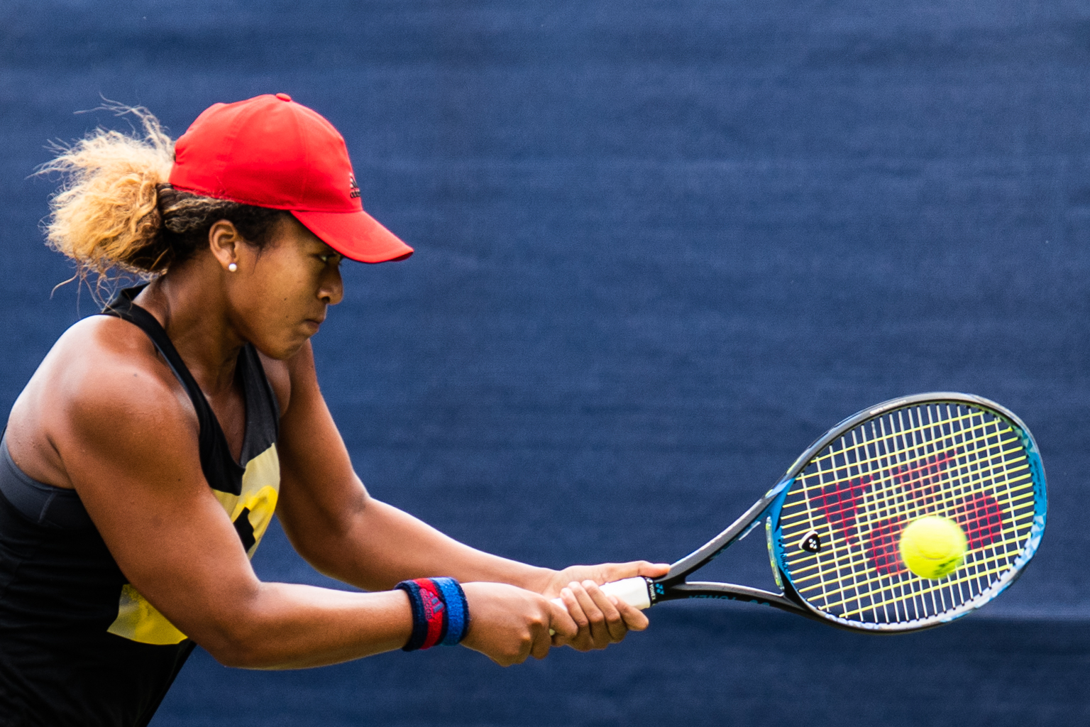
<svg viewBox="0 0 1090 727">
<path fill-rule="evenodd" d="M 211 492 L 230 516 L 246 555 L 252 558 L 272 520 L 280 492 L 280 460 L 276 445 L 246 463 L 240 495 Z M 144 644 L 177 644 L 185 639 L 184 633 L 128 583 L 121 589 L 118 618 L 107 631 Z"/>
</svg>

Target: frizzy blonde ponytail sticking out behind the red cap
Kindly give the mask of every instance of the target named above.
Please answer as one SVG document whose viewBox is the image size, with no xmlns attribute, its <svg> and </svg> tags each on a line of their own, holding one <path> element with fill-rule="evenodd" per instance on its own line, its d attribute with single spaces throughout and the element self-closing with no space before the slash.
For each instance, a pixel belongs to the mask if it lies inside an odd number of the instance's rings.
<svg viewBox="0 0 1090 727">
<path fill-rule="evenodd" d="M 50 199 L 47 243 L 75 260 L 78 275 L 123 270 L 154 275 L 166 269 L 158 190 L 167 182 L 174 143 L 147 109 L 110 106 L 132 114 L 141 131 L 96 129 L 43 165 L 61 189 Z"/>
</svg>

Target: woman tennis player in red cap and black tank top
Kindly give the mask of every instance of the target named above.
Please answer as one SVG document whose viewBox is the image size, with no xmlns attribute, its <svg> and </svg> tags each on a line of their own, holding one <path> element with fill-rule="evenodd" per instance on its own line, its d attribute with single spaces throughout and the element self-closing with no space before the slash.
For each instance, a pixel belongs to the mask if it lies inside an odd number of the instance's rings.
<svg viewBox="0 0 1090 727">
<path fill-rule="evenodd" d="M 310 338 L 341 260 L 412 250 L 363 210 L 332 125 L 284 94 L 217 104 L 177 144 L 136 113 L 145 134 L 47 166 L 50 244 L 150 282 L 58 340 L 0 441 L 0 725 L 146 725 L 195 644 L 246 668 L 457 643 L 508 665 L 645 628 L 596 584 L 664 566 L 487 555 L 356 477 Z M 367 592 L 259 581 L 274 512 Z"/>
</svg>

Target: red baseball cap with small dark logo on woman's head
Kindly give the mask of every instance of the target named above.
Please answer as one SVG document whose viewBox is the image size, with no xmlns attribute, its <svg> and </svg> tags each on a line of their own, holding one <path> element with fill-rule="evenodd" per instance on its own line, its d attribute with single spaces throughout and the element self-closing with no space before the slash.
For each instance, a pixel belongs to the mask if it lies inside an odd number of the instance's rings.
<svg viewBox="0 0 1090 727">
<path fill-rule="evenodd" d="M 175 190 L 286 209 L 354 260 L 384 263 L 412 247 L 363 211 L 344 138 L 288 94 L 208 107 L 174 144 Z"/>
</svg>

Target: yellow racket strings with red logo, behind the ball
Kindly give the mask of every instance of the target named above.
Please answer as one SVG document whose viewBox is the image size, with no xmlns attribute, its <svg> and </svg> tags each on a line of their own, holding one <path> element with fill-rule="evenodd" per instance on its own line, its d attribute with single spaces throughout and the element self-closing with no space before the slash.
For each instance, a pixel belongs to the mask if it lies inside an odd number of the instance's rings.
<svg viewBox="0 0 1090 727">
<path fill-rule="evenodd" d="M 938 514 L 967 531 L 961 566 L 923 579 L 900 561 L 900 531 Z M 930 403 L 888 412 L 811 459 L 779 528 L 799 594 L 827 614 L 892 623 L 955 610 L 1014 565 L 1030 534 L 1033 478 L 1021 438 L 991 412 Z M 814 533 L 816 553 L 802 547 Z"/>
</svg>

